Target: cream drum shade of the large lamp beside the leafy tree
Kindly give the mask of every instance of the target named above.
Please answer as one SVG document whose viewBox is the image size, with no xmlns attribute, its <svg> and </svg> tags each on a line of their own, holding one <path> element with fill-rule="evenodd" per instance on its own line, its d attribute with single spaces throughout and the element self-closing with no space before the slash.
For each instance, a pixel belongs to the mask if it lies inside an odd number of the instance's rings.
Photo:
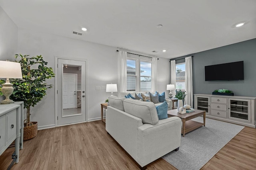
<svg viewBox="0 0 256 170">
<path fill-rule="evenodd" d="M 0 78 L 22 78 L 20 63 L 0 61 Z"/>
</svg>

